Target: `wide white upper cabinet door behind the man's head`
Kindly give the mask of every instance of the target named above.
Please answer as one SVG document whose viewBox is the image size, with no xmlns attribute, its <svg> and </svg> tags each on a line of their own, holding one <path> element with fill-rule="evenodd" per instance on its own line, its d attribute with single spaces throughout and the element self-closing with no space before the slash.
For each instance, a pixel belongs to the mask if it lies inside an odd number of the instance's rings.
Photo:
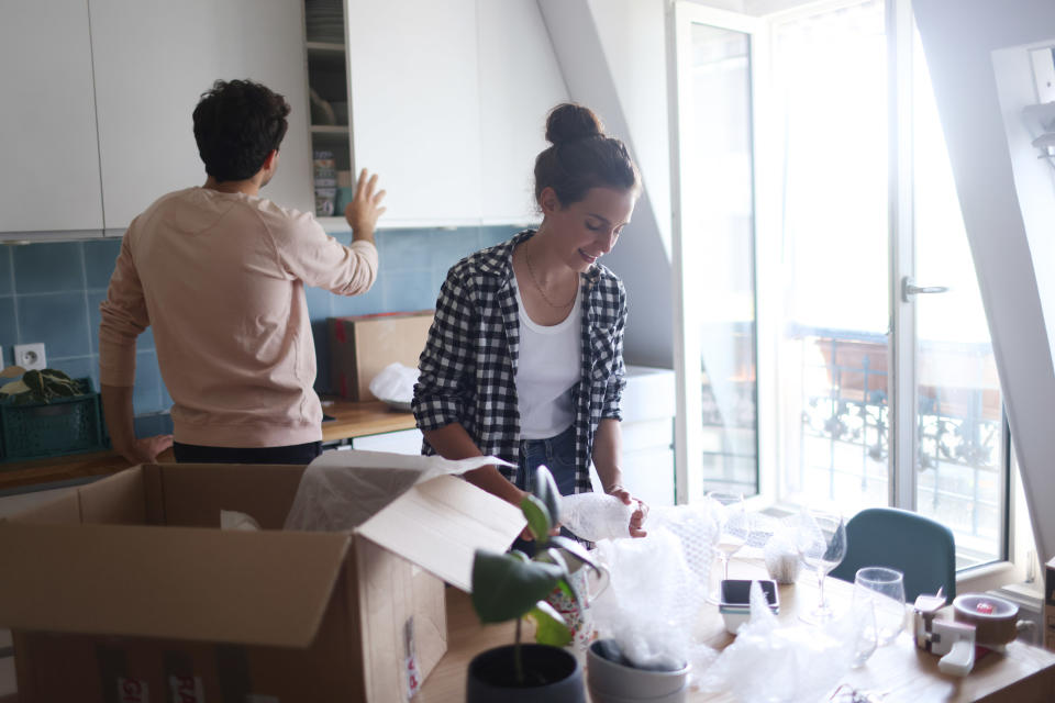
<svg viewBox="0 0 1055 703">
<path fill-rule="evenodd" d="M 302 3 L 89 0 L 107 230 L 206 181 L 192 112 L 216 79 L 249 78 L 292 107 L 278 174 L 262 196 L 310 210 Z"/>
</svg>

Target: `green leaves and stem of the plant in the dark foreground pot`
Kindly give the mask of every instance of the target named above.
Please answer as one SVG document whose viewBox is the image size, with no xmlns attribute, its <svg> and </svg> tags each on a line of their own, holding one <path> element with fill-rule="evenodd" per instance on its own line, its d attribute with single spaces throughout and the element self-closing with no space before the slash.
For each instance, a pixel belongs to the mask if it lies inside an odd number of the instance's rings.
<svg viewBox="0 0 1055 703">
<path fill-rule="evenodd" d="M 559 588 L 576 602 L 579 594 L 569 583 L 568 557 L 597 568 L 582 546 L 559 535 L 551 535 L 560 518 L 560 493 L 545 466 L 535 470 L 533 493 L 520 504 L 528 528 L 535 539 L 534 558 L 519 549 L 506 554 L 477 549 L 473 561 L 473 607 L 481 623 L 517 620 L 513 663 L 517 684 L 524 685 L 525 672 L 520 649 L 524 617 L 535 622 L 535 640 L 563 647 L 571 641 L 571 632 L 546 596 Z"/>
</svg>

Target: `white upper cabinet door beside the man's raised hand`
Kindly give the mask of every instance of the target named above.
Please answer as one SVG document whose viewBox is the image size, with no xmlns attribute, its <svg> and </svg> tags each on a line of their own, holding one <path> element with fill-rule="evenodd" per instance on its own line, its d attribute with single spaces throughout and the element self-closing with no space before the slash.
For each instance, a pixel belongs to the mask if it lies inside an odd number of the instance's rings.
<svg viewBox="0 0 1055 703">
<path fill-rule="evenodd" d="M 476 0 L 346 9 L 353 158 L 388 191 L 381 226 L 478 224 Z"/>
</svg>

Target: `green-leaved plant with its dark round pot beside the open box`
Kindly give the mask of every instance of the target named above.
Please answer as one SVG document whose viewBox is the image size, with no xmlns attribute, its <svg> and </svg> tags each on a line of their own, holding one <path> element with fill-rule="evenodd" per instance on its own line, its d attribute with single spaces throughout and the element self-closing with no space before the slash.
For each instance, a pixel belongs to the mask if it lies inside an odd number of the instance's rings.
<svg viewBox="0 0 1055 703">
<path fill-rule="evenodd" d="M 473 607 L 480 622 L 515 620 L 517 635 L 512 645 L 484 651 L 469 663 L 467 703 L 586 701 L 579 661 L 563 649 L 571 641 L 571 632 L 546 596 L 559 589 L 579 600 L 569 581 L 569 557 L 597 567 L 577 542 L 551 534 L 559 524 L 559 492 L 546 467 L 540 466 L 534 478 L 533 492 L 520 507 L 535 539 L 535 556 L 480 549 L 473 563 Z M 521 643 L 524 617 L 535 622 L 537 644 Z"/>
</svg>

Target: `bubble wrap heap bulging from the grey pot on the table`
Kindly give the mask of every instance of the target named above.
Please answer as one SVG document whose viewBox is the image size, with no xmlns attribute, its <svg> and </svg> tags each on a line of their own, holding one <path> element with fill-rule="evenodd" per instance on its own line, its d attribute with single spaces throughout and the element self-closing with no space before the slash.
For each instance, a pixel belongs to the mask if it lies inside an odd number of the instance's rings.
<svg viewBox="0 0 1055 703">
<path fill-rule="evenodd" d="M 691 662 L 699 671 L 717 656 L 693 636 L 717 525 L 707 505 L 679 505 L 654 510 L 646 527 L 647 537 L 597 544 L 596 556 L 611 573 L 593 604 L 598 632 L 614 639 L 632 666 L 675 670 Z"/>
</svg>

